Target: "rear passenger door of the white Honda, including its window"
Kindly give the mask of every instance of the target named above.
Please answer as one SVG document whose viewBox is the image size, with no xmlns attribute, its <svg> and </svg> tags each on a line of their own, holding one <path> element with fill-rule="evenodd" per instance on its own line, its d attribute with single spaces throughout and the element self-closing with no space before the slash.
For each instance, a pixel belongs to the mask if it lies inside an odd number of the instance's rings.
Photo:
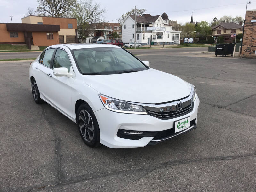
<svg viewBox="0 0 256 192">
<path fill-rule="evenodd" d="M 35 80 L 40 91 L 40 96 L 45 99 L 49 100 L 49 87 L 51 86 L 50 79 L 51 79 L 51 63 L 53 59 L 53 54 L 55 52 L 55 48 L 46 49 L 40 55 L 38 65 L 35 65 Z"/>
</svg>

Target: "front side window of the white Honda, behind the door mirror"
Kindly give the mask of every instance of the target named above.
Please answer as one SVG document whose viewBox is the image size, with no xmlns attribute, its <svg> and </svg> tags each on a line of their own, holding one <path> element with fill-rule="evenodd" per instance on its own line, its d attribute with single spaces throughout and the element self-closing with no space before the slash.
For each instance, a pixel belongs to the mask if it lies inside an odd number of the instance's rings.
<svg viewBox="0 0 256 192">
<path fill-rule="evenodd" d="M 69 60 L 68 53 L 62 49 L 57 49 L 53 60 L 53 68 L 57 67 L 66 67 L 68 68 L 68 72 L 71 67 L 71 62 Z"/>
</svg>

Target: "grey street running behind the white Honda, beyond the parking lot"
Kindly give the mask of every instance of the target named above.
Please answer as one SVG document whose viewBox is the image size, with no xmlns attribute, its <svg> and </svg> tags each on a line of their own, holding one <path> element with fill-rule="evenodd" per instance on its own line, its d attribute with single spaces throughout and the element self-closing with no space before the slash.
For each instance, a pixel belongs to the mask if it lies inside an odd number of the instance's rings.
<svg viewBox="0 0 256 192">
<path fill-rule="evenodd" d="M 128 49 L 128 51 L 136 54 L 152 54 L 160 49 Z M 208 47 L 192 47 L 192 48 L 164 48 L 161 49 L 162 54 L 175 54 L 181 52 L 207 52 Z M 0 52 L 1 59 L 15 58 L 36 58 L 40 52 Z"/>
</svg>

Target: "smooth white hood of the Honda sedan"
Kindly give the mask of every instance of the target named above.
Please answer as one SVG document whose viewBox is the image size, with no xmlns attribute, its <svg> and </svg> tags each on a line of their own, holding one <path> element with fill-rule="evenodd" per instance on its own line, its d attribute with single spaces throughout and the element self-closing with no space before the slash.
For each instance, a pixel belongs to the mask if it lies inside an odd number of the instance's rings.
<svg viewBox="0 0 256 192">
<path fill-rule="evenodd" d="M 191 85 L 186 81 L 152 68 L 132 73 L 84 75 L 84 83 L 103 95 L 138 103 L 179 100 L 191 92 Z"/>
</svg>

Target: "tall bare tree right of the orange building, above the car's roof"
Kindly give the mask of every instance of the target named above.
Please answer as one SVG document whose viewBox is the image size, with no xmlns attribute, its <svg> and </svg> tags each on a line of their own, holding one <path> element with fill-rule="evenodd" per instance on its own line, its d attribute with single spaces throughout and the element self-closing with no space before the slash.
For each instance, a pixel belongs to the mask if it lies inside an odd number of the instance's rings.
<svg viewBox="0 0 256 192">
<path fill-rule="evenodd" d="M 100 8 L 100 3 L 92 0 L 81 0 L 73 8 L 72 16 L 77 20 L 78 41 L 85 39 L 97 28 L 97 23 L 103 22 L 103 13 L 106 9 Z"/>
</svg>

